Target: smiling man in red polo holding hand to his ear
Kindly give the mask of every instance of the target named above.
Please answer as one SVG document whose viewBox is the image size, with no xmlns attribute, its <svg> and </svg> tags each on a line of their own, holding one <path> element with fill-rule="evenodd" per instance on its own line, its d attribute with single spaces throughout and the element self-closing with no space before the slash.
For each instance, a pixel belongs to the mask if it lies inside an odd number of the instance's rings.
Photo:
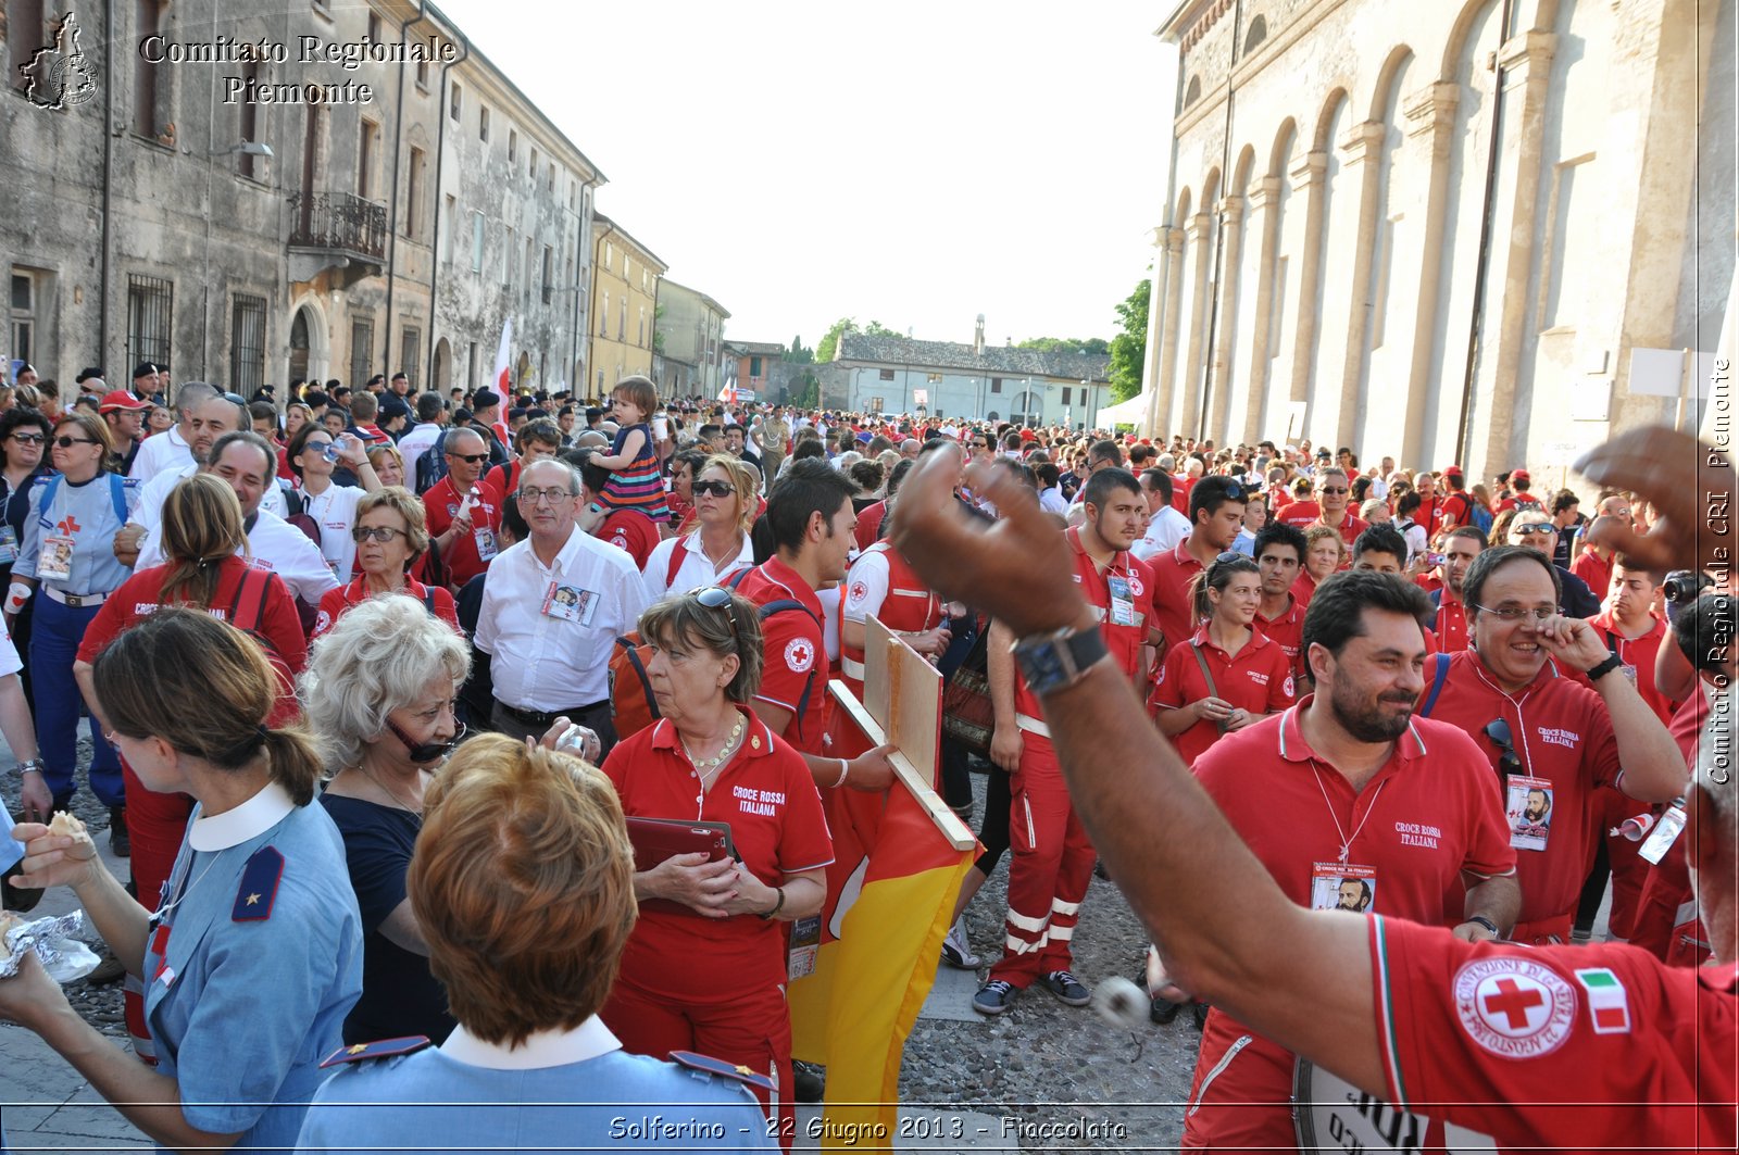
<svg viewBox="0 0 1739 1155">
<path fill-rule="evenodd" d="M 1598 786 L 1645 804 L 1685 790 L 1685 760 L 1666 727 L 1602 633 L 1558 614 L 1558 571 L 1539 550 L 1480 553 L 1462 579 L 1473 649 L 1426 664 L 1419 710 L 1480 736 L 1497 772 L 1520 851 L 1518 943 L 1569 941 Z"/>
</svg>

